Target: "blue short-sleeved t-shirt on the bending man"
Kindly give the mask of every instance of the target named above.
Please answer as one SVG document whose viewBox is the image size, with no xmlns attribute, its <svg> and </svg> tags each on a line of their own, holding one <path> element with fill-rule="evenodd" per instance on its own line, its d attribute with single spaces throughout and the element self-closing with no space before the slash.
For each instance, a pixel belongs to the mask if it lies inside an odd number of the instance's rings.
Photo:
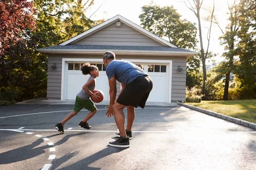
<svg viewBox="0 0 256 170">
<path fill-rule="evenodd" d="M 111 61 L 106 67 L 106 74 L 109 79 L 115 76 L 117 81 L 125 85 L 129 84 L 137 77 L 149 75 L 134 63 L 123 60 Z"/>
</svg>

